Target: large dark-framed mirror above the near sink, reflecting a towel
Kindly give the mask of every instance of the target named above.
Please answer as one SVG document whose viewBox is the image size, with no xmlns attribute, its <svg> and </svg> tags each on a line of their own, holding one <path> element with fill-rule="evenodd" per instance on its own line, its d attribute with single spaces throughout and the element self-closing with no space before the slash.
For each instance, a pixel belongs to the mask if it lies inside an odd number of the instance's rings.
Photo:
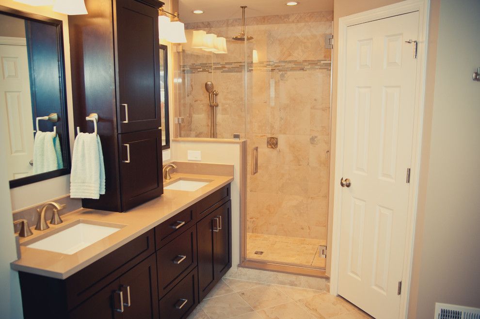
<svg viewBox="0 0 480 319">
<path fill-rule="evenodd" d="M 62 21 L 0 6 L 0 130 L 10 188 L 70 173 Z"/>
</svg>

